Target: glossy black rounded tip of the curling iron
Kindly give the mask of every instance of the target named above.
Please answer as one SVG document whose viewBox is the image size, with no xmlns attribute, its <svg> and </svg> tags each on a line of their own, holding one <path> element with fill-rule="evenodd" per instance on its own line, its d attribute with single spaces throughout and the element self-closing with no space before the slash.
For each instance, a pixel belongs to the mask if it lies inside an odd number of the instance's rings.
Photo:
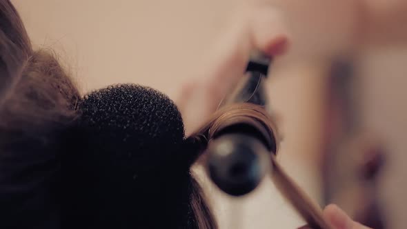
<svg viewBox="0 0 407 229">
<path fill-rule="evenodd" d="M 270 166 L 270 154 L 259 139 L 240 133 L 221 135 L 208 146 L 212 181 L 233 196 L 254 190 Z"/>
</svg>

